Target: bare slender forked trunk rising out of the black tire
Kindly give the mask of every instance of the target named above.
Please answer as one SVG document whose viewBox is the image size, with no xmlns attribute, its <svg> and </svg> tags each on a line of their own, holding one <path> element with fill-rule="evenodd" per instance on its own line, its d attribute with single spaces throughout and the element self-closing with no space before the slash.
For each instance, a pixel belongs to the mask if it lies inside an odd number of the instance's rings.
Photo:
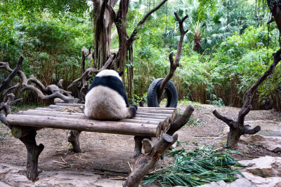
<svg viewBox="0 0 281 187">
<path fill-rule="evenodd" d="M 188 15 L 185 15 L 185 17 L 183 17 L 182 20 L 181 20 L 181 18 L 178 17 L 177 13 L 175 13 L 175 16 L 176 16 L 176 20 L 178 20 L 181 36 L 180 36 L 180 40 L 178 41 L 178 48 L 177 48 L 177 51 L 176 51 L 176 59 L 174 60 L 174 57 L 173 57 L 174 54 L 173 53 L 170 53 L 170 55 L 169 55 L 170 71 L 166 75 L 166 77 L 164 78 L 164 80 L 162 81 L 162 83 L 159 87 L 159 92 L 157 93 L 158 101 L 161 100 L 161 97 L 164 94 L 166 84 L 174 76 L 176 68 L 179 66 L 179 62 L 181 60 L 181 50 L 183 48 L 183 38 L 184 38 L 185 34 L 188 32 L 188 30 L 185 31 L 183 29 L 183 22 L 185 21 L 186 18 L 188 18 Z"/>
</svg>

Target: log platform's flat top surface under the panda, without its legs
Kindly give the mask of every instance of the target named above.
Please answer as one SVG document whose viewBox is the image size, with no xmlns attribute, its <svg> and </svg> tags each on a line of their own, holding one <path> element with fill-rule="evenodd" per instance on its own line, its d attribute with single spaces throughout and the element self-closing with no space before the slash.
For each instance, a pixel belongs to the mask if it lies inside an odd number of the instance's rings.
<svg viewBox="0 0 281 187">
<path fill-rule="evenodd" d="M 161 137 L 176 118 L 175 108 L 138 107 L 135 118 L 119 121 L 91 120 L 82 112 L 83 104 L 58 103 L 48 108 L 19 111 L 6 117 L 8 125 L 57 128 L 141 137 Z"/>
</svg>

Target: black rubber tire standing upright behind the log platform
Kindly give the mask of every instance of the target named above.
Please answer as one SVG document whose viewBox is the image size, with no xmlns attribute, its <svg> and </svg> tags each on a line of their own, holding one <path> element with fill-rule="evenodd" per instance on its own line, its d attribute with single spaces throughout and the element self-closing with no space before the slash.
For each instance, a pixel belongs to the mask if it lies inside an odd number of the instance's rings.
<svg viewBox="0 0 281 187">
<path fill-rule="evenodd" d="M 148 88 L 148 107 L 160 107 L 157 100 L 157 93 L 164 78 L 157 78 Z M 169 81 L 165 87 L 167 103 L 166 107 L 176 108 L 178 105 L 178 92 L 174 83 Z"/>
</svg>

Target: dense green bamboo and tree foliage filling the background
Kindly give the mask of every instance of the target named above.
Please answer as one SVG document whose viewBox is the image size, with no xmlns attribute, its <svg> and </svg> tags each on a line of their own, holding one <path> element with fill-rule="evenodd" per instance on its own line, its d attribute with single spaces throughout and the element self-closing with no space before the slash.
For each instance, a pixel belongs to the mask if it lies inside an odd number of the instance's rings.
<svg viewBox="0 0 281 187">
<path fill-rule="evenodd" d="M 34 2 L 1 1 L 0 60 L 15 67 L 22 55 L 22 71 L 27 76 L 34 74 L 45 85 L 63 78 L 67 88 L 81 74 L 82 46 L 93 46 L 92 9 L 86 1 Z M 158 3 L 131 1 L 128 31 Z M 169 71 L 168 56 L 176 50 L 179 37 L 174 12 L 189 15 L 185 28 L 190 30 L 172 80 L 179 98 L 241 106 L 244 92 L 268 68 L 272 53 L 280 47 L 275 23 L 266 24 L 270 20 L 266 1 L 168 1 L 141 28 L 133 44 L 133 64 L 126 64 L 134 68 L 135 99 L 145 95 L 153 77 L 164 77 Z M 117 37 L 112 46 L 118 47 Z M 2 72 L 0 80 L 6 76 Z M 277 67 L 259 87 L 254 109 L 270 105 L 280 109 L 279 75 Z M 21 97 L 23 102 L 38 103 L 32 92 Z"/>
</svg>

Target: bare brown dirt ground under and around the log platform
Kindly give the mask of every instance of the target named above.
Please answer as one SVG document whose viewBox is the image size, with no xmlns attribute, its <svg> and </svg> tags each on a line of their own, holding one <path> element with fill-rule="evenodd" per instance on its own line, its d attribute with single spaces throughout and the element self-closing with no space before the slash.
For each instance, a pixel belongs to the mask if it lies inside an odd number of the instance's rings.
<svg viewBox="0 0 281 187">
<path fill-rule="evenodd" d="M 211 113 L 216 109 L 225 116 L 237 118 L 240 109 L 207 104 L 196 104 L 192 114 L 193 125 L 185 125 L 178 131 L 181 144 L 193 150 L 204 144 L 215 144 L 216 148 L 224 148 L 226 126 Z M 183 111 L 185 106 L 178 106 Z M 276 120 L 281 121 L 281 113 L 268 111 L 250 111 L 245 120 Z M 73 153 L 67 142 L 68 130 L 43 129 L 37 132 L 37 144 L 44 144 L 44 151 L 39 156 L 39 169 L 42 171 L 83 170 L 100 174 L 104 178 L 122 179 L 128 176 L 133 165 L 133 136 L 119 134 L 103 134 L 82 132 L 80 138 L 83 153 Z M 267 151 L 266 148 L 240 141 L 236 151 L 242 155 L 233 155 L 237 160 L 258 158 L 263 155 L 280 156 L 281 153 Z M 0 162 L 12 165 L 26 165 L 27 152 L 25 146 L 15 139 L 8 128 L 0 124 Z M 59 162 L 67 162 L 66 165 Z M 54 162 L 56 161 L 56 162 Z"/>
</svg>

